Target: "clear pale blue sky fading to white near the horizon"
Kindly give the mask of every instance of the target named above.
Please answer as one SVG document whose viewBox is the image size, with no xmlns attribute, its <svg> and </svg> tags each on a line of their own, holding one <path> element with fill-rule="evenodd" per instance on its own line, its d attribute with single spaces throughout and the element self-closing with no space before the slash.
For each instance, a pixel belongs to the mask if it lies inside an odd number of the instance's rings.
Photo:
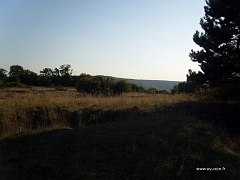
<svg viewBox="0 0 240 180">
<path fill-rule="evenodd" d="M 1 0 L 0 68 L 186 81 L 204 0 Z"/>
</svg>

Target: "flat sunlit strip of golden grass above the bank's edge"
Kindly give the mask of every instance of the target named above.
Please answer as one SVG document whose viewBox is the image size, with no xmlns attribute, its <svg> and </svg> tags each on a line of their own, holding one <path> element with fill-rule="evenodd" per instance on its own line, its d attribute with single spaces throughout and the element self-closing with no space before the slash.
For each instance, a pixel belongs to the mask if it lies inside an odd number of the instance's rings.
<svg viewBox="0 0 240 180">
<path fill-rule="evenodd" d="M 63 107 L 76 108 L 84 106 L 117 107 L 138 106 L 149 108 L 153 104 L 171 104 L 184 101 L 196 101 L 195 96 L 186 94 L 165 95 L 126 93 L 121 96 L 92 96 L 78 93 L 70 88 L 56 91 L 54 88 L 34 87 L 32 89 L 5 89 L 0 91 L 0 107 Z"/>
</svg>

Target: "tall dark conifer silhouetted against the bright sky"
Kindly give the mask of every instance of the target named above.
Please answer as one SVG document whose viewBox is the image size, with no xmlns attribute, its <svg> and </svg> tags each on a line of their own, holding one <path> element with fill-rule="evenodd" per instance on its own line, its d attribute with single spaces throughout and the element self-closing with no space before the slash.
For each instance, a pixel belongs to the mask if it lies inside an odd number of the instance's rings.
<svg viewBox="0 0 240 180">
<path fill-rule="evenodd" d="M 240 78 L 240 1 L 207 0 L 205 16 L 196 31 L 194 42 L 202 50 L 191 51 L 190 58 L 198 62 L 204 81 L 211 85 Z"/>
</svg>

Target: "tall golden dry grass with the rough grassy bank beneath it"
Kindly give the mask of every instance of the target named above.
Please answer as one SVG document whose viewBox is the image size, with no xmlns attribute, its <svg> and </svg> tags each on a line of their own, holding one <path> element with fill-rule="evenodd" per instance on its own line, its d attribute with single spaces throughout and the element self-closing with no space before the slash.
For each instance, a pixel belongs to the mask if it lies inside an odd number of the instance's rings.
<svg viewBox="0 0 240 180">
<path fill-rule="evenodd" d="M 92 96 L 78 93 L 74 88 L 66 91 L 43 87 L 4 89 L 0 91 L 0 139 L 33 129 L 85 126 L 89 121 L 99 118 L 112 121 L 116 116 L 125 116 L 122 109 L 137 107 L 141 111 L 151 111 L 156 105 L 159 107 L 196 100 L 194 96 L 186 94 Z M 72 124 L 74 121 L 78 122 Z"/>
</svg>

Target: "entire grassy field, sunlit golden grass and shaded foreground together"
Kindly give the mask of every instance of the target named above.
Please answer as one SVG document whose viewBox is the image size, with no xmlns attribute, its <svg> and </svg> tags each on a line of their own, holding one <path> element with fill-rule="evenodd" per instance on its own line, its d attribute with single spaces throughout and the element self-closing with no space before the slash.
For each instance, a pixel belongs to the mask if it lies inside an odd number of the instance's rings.
<svg viewBox="0 0 240 180">
<path fill-rule="evenodd" d="M 235 180 L 239 108 L 190 94 L 3 89 L 0 179 Z"/>
</svg>

